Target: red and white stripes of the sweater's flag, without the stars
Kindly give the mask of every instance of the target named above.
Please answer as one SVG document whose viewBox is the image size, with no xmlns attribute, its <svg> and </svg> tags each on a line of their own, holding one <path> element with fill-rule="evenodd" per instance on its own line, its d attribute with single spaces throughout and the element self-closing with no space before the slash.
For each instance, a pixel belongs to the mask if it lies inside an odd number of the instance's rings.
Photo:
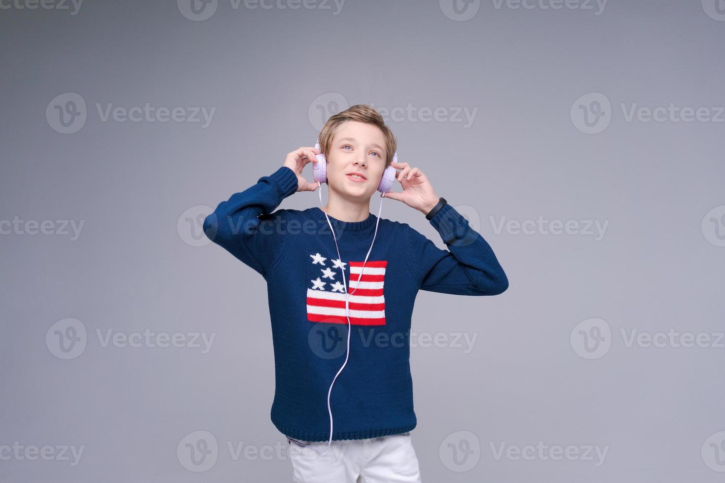
<svg viewBox="0 0 725 483">
<path fill-rule="evenodd" d="M 387 261 L 351 261 L 349 296 L 350 324 L 385 325 L 383 284 Z M 362 272 L 362 276 L 361 276 Z M 347 324 L 345 294 L 326 290 L 307 289 L 307 320 Z"/>
</svg>

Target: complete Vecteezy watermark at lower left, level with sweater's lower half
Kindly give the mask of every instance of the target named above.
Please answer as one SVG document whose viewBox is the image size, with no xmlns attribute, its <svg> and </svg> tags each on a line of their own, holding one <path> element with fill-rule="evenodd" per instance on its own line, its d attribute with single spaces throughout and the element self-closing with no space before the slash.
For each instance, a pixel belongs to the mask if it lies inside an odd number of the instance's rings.
<svg viewBox="0 0 725 483">
<path fill-rule="evenodd" d="M 212 349 L 216 332 L 152 332 L 148 327 L 143 332 L 96 329 L 96 337 L 101 348 L 191 348 L 207 354 Z M 46 331 L 46 347 L 57 358 L 74 359 L 86 350 L 86 345 L 86 325 L 78 319 L 59 320 Z"/>
</svg>

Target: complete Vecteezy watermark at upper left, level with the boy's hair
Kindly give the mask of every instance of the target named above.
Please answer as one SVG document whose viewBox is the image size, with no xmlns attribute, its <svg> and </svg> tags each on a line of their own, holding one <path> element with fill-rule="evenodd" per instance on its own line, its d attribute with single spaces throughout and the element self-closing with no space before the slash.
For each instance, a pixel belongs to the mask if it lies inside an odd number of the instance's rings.
<svg viewBox="0 0 725 483">
<path fill-rule="evenodd" d="M 216 107 L 206 106 L 114 106 L 113 103 L 96 103 L 100 122 L 201 122 L 202 129 L 209 127 Z M 86 125 L 88 109 L 83 96 L 66 92 L 55 96 L 46 106 L 46 121 L 57 133 L 72 134 Z"/>
</svg>

